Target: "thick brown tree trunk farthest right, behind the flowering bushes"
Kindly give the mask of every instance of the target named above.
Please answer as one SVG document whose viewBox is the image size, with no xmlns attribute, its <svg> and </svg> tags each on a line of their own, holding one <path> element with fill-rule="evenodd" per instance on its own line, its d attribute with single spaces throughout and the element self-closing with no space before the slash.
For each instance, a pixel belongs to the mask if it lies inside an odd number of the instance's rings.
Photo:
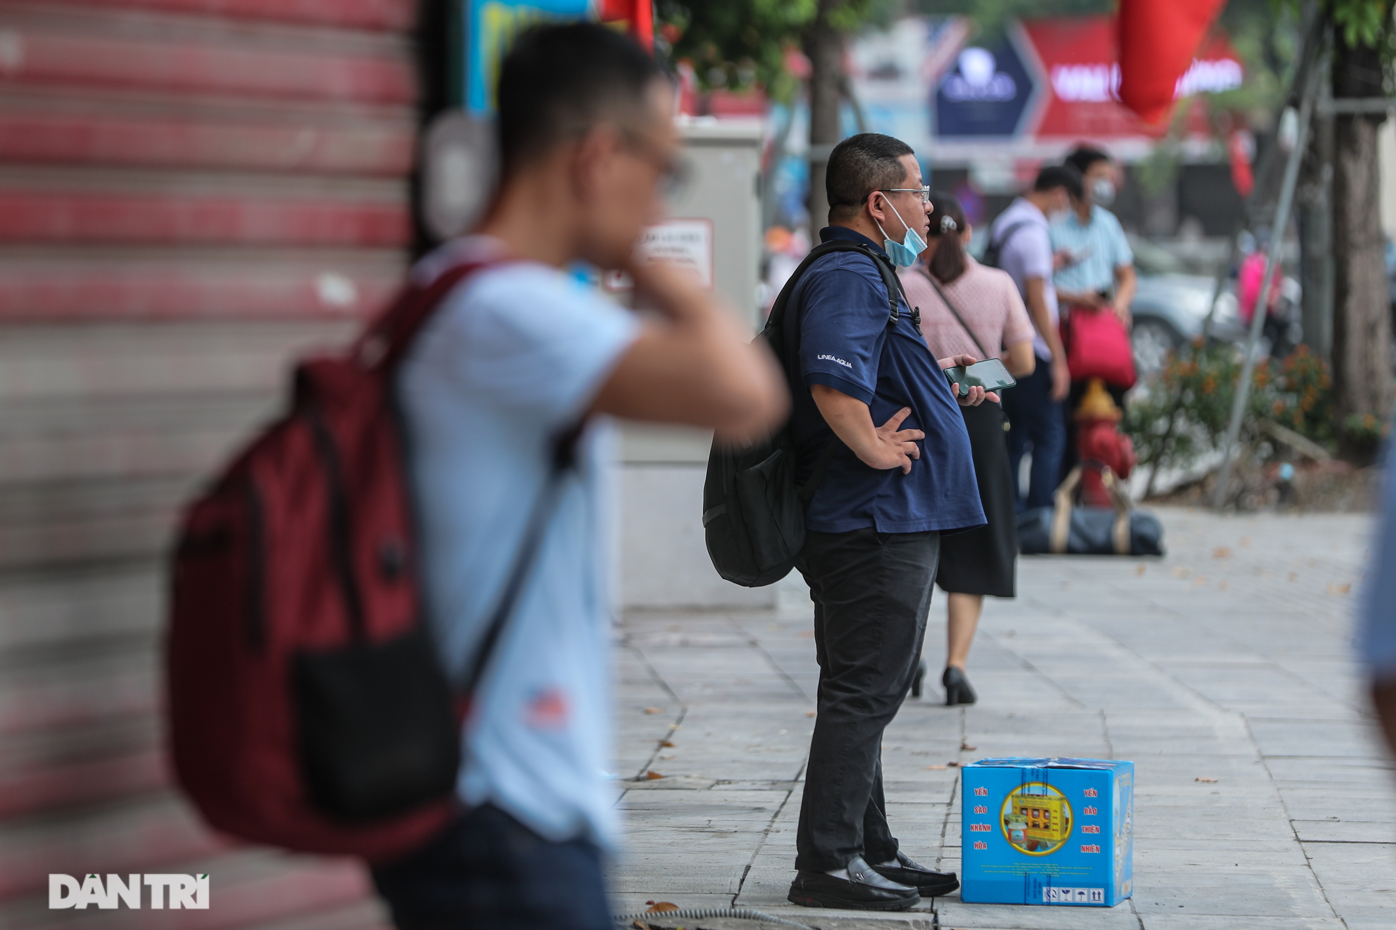
<svg viewBox="0 0 1396 930">
<path fill-rule="evenodd" d="M 1333 96 L 1382 96 L 1378 49 L 1351 47 L 1336 31 Z M 1376 128 L 1382 116 L 1333 120 L 1333 407 L 1344 457 L 1369 446 L 1344 441 L 1353 414 L 1385 421 L 1392 395 L 1392 332 L 1381 222 Z"/>
</svg>

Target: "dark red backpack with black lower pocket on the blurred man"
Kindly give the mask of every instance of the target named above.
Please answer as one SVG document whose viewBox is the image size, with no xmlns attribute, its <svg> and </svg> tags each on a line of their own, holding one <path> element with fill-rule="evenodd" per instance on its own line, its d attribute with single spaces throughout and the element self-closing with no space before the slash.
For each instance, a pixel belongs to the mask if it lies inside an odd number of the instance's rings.
<svg viewBox="0 0 1396 930">
<path fill-rule="evenodd" d="M 180 785 L 218 830 L 385 860 L 455 810 L 461 728 L 423 622 L 394 372 L 479 268 L 409 287 L 349 354 L 302 361 L 290 410 L 184 513 L 170 738 Z"/>
</svg>

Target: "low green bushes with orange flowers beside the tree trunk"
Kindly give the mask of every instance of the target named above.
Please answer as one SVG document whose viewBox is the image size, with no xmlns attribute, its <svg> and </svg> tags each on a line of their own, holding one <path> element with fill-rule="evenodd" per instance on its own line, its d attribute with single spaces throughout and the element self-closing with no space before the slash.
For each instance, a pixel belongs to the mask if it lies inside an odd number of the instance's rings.
<svg viewBox="0 0 1396 930">
<path fill-rule="evenodd" d="M 1233 346 L 1194 344 L 1168 358 L 1148 395 L 1132 400 L 1122 424 L 1141 464 L 1188 467 L 1220 450 L 1235 402 L 1242 358 Z M 1262 439 L 1270 420 L 1321 445 L 1332 445 L 1332 378 L 1328 364 L 1300 346 L 1283 363 L 1255 367 L 1241 417 L 1241 442 Z"/>
</svg>

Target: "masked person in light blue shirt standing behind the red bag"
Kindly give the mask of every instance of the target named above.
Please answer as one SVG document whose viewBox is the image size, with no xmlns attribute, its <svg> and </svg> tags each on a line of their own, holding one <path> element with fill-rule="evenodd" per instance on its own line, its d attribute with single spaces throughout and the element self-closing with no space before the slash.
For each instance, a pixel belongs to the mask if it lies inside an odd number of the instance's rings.
<svg viewBox="0 0 1396 930">
<path fill-rule="evenodd" d="M 1081 195 L 1051 223 L 1051 247 L 1058 269 L 1054 275 L 1062 315 L 1113 312 L 1129 328 L 1129 304 L 1135 294 L 1134 250 L 1114 213 L 1106 209 L 1115 199 L 1117 169 L 1108 155 L 1086 145 L 1067 156 L 1067 165 L 1081 174 Z M 1060 477 L 1078 462 L 1074 413 L 1086 393 L 1086 381 L 1072 381 L 1064 407 L 1067 448 Z M 1124 409 L 1125 386 L 1106 385 L 1115 406 Z"/>
</svg>

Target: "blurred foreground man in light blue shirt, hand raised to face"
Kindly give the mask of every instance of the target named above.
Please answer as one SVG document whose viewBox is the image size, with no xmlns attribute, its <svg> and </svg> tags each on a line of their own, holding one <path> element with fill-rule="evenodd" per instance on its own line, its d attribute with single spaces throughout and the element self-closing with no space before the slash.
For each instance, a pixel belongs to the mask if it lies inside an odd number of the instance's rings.
<svg viewBox="0 0 1396 930">
<path fill-rule="evenodd" d="M 676 170 L 671 106 L 653 59 L 613 29 L 524 33 L 500 74 L 490 212 L 413 269 L 427 284 L 462 261 L 497 262 L 443 300 L 398 383 L 427 612 L 458 682 L 530 514 L 546 489 L 557 496 L 463 725 L 461 814 L 374 869 L 399 930 L 610 930 L 607 420 L 743 435 L 787 409 L 775 360 L 734 314 L 632 255 Z M 656 314 L 641 321 L 574 280 L 578 261 L 628 272 Z M 579 425 L 575 466 L 553 485 L 558 436 Z"/>
</svg>

